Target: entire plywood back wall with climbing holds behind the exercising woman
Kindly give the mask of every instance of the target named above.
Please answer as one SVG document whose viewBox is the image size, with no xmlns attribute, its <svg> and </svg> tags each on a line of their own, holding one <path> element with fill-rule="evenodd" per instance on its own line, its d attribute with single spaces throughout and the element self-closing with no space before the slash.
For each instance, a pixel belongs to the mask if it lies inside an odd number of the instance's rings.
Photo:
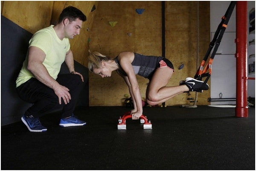
<svg viewBox="0 0 256 171">
<path fill-rule="evenodd" d="M 193 1 L 165 1 L 166 58 L 175 67 L 168 86 L 178 85 L 186 77 L 194 77 L 197 70 L 197 3 Z M 160 1 L 99 1 L 90 32 L 90 49 L 112 58 L 119 52 L 132 51 L 144 55 L 162 55 L 162 23 Z M 145 9 L 137 14 L 135 9 Z M 200 63 L 209 45 L 209 2 L 199 3 L 200 12 Z M 109 21 L 117 21 L 111 27 Z M 131 33 L 130 36 L 127 34 Z M 184 64 L 182 70 L 177 68 Z M 148 80 L 137 76 L 143 99 Z M 123 105 L 128 87 L 115 72 L 111 78 L 89 74 L 89 105 Z M 209 81 L 208 81 L 209 82 Z M 198 94 L 198 105 L 208 104 L 209 91 Z M 195 92 L 180 94 L 167 105 L 193 104 Z"/>
</svg>

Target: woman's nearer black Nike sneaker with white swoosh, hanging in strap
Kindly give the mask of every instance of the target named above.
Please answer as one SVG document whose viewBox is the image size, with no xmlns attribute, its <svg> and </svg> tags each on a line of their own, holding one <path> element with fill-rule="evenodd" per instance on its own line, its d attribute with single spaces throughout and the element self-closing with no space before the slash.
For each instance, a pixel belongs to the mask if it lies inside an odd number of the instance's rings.
<svg viewBox="0 0 256 171">
<path fill-rule="evenodd" d="M 196 91 L 200 93 L 202 93 L 203 90 L 209 89 L 209 85 L 204 84 L 204 81 L 199 81 L 191 77 L 185 79 L 185 85 L 189 88 L 189 91 Z"/>
</svg>

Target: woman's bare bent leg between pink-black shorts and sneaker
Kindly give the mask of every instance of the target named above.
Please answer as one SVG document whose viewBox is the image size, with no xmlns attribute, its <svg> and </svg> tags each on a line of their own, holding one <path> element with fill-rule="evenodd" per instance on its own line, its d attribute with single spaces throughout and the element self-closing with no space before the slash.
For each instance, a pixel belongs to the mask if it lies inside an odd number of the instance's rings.
<svg viewBox="0 0 256 171">
<path fill-rule="evenodd" d="M 186 85 L 166 87 L 172 74 L 173 70 L 169 67 L 160 67 L 154 72 L 146 90 L 148 104 L 160 104 L 180 93 L 189 91 Z"/>
</svg>

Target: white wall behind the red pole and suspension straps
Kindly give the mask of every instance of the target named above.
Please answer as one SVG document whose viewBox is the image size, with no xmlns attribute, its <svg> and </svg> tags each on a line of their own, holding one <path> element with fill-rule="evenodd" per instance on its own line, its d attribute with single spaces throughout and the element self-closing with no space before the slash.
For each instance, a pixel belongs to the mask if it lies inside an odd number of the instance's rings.
<svg viewBox="0 0 256 171">
<path fill-rule="evenodd" d="M 227 11 L 230 1 L 210 1 L 210 31 L 211 39 L 221 17 Z M 255 7 L 255 1 L 248 1 L 248 16 L 250 9 Z M 247 17 L 248 18 L 248 17 Z M 249 21 L 248 21 L 249 23 Z M 248 24 L 249 27 L 249 24 Z M 255 37 L 255 35 L 254 35 Z M 212 63 L 211 98 L 236 98 L 236 7 L 228 23 L 221 44 Z M 249 36 L 248 36 L 249 38 Z M 254 60 L 255 59 L 250 59 Z M 255 75 L 249 75 L 250 77 Z M 255 97 L 255 80 L 248 80 L 248 97 Z M 236 104 L 236 101 L 218 101 L 211 104 Z"/>
</svg>

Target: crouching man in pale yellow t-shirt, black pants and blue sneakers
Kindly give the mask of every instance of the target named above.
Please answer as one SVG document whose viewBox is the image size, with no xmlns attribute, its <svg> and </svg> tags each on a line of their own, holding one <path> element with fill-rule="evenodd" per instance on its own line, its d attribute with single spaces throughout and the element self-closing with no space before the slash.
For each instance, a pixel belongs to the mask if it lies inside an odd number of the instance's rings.
<svg viewBox="0 0 256 171">
<path fill-rule="evenodd" d="M 79 35 L 85 20 L 79 9 L 69 6 L 61 12 L 55 26 L 39 30 L 29 41 L 16 89 L 21 99 L 33 104 L 21 117 L 31 132 L 47 131 L 39 118 L 58 107 L 63 107 L 60 126 L 86 125 L 73 114 L 84 80 L 75 71 L 69 43 L 69 39 Z M 58 75 L 64 61 L 70 74 Z"/>
</svg>

